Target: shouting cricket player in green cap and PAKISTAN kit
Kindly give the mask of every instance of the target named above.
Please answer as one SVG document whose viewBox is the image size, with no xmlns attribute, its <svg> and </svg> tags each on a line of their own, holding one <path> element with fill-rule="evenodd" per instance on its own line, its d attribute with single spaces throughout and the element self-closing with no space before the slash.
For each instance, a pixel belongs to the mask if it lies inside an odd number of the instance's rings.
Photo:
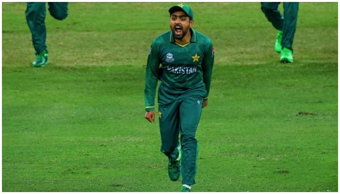
<svg viewBox="0 0 340 194">
<path fill-rule="evenodd" d="M 207 36 L 191 28 L 194 16 L 187 4 L 175 5 L 169 13 L 170 31 L 156 37 L 149 51 L 144 90 L 145 118 L 154 122 L 154 101 L 160 80 L 160 151 L 169 158 L 170 179 L 177 181 L 182 174 L 181 190 L 190 192 L 197 170 L 195 134 L 202 108 L 208 104 L 215 51 Z"/>
</svg>

